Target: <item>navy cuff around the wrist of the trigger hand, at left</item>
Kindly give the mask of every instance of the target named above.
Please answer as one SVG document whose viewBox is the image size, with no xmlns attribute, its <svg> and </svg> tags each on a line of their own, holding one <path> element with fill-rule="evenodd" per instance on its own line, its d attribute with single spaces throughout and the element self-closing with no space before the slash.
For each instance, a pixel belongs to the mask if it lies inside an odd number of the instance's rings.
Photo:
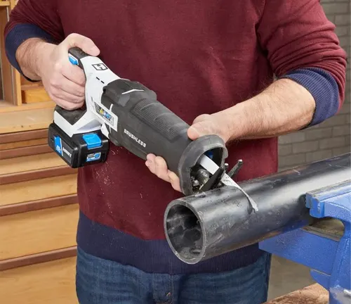
<svg viewBox="0 0 351 304">
<path fill-rule="evenodd" d="M 34 82 L 23 74 L 16 59 L 16 51 L 18 47 L 29 38 L 41 38 L 51 43 L 54 43 L 55 41 L 50 34 L 42 30 L 40 27 L 37 27 L 37 25 L 27 23 L 15 25 L 15 27 L 13 27 L 13 29 L 6 35 L 5 49 L 8 61 L 10 61 L 11 65 L 13 65 L 13 67 L 23 75 L 23 77 L 31 82 Z"/>
</svg>

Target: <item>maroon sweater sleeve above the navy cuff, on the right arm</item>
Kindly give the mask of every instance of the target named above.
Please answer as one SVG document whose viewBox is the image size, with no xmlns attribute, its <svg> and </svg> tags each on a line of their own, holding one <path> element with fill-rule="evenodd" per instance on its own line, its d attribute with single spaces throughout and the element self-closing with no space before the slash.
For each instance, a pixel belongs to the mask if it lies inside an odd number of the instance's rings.
<svg viewBox="0 0 351 304">
<path fill-rule="evenodd" d="M 338 84 L 340 106 L 345 96 L 346 52 L 335 25 L 319 0 L 266 0 L 258 39 L 277 77 L 300 68 L 321 68 Z"/>
</svg>

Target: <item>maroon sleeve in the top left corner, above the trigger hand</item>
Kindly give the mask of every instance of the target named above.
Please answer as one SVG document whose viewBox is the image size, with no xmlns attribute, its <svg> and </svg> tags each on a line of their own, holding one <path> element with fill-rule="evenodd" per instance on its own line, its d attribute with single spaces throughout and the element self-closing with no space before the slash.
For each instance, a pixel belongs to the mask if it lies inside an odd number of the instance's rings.
<svg viewBox="0 0 351 304">
<path fill-rule="evenodd" d="M 10 20 L 5 27 L 5 37 L 16 25 L 34 25 L 48 33 L 55 41 L 64 39 L 58 0 L 19 0 L 11 11 Z"/>
</svg>

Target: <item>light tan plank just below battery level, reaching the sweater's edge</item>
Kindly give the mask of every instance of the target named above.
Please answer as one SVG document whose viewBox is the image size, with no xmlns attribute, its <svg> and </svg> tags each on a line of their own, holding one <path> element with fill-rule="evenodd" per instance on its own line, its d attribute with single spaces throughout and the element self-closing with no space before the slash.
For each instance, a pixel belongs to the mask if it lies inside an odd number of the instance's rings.
<svg viewBox="0 0 351 304">
<path fill-rule="evenodd" d="M 77 174 L 0 185 L 0 205 L 37 201 L 77 193 Z"/>
</svg>

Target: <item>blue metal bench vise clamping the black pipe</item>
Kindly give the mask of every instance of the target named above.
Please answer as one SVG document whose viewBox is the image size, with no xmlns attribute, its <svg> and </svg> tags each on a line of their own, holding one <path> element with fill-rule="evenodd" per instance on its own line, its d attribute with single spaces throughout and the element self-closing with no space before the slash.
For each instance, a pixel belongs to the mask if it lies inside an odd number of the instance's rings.
<svg viewBox="0 0 351 304">
<path fill-rule="evenodd" d="M 351 303 L 351 180 L 307 192 L 315 223 L 259 243 L 260 249 L 310 268 L 330 304 Z"/>
</svg>

